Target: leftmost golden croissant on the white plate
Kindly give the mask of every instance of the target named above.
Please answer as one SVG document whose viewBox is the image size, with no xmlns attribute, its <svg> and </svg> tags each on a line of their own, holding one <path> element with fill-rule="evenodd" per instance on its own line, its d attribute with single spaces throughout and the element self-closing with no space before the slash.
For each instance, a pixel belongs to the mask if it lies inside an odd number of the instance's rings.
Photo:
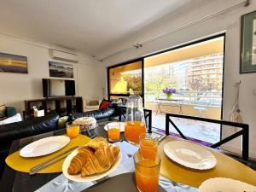
<svg viewBox="0 0 256 192">
<path fill-rule="evenodd" d="M 93 151 L 88 147 L 79 148 L 79 153 L 73 157 L 67 169 L 68 174 L 75 175 L 81 172 L 86 160 L 90 159 L 93 154 Z"/>
</svg>

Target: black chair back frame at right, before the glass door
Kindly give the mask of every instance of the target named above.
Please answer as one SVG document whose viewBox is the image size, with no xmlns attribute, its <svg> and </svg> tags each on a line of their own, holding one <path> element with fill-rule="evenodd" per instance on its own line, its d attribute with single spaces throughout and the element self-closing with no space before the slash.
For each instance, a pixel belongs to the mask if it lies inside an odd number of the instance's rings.
<svg viewBox="0 0 256 192">
<path fill-rule="evenodd" d="M 204 122 L 209 122 L 209 123 L 215 123 L 215 124 L 219 124 L 219 125 L 230 125 L 232 127 L 241 128 L 241 131 L 237 131 L 236 133 L 230 135 L 229 137 L 221 139 L 218 143 L 214 143 L 210 147 L 218 148 L 222 144 L 228 143 L 231 140 L 233 140 L 234 138 L 241 136 L 241 138 L 242 138 L 241 158 L 243 160 L 248 160 L 248 156 L 249 156 L 249 125 L 226 121 L 226 120 L 207 119 L 207 118 L 194 117 L 194 116 L 183 115 L 183 114 L 166 113 L 166 136 L 169 136 L 169 134 L 170 134 L 170 124 L 169 123 L 171 123 L 172 126 L 179 133 L 179 135 L 181 137 L 183 137 L 183 139 L 186 139 L 186 140 L 188 140 L 188 138 L 185 137 L 183 135 L 183 132 L 177 128 L 177 125 L 174 124 L 174 122 L 172 121 L 172 119 L 170 117 L 181 118 L 181 119 L 193 119 L 193 120 L 199 120 L 199 121 L 204 121 Z"/>
</svg>

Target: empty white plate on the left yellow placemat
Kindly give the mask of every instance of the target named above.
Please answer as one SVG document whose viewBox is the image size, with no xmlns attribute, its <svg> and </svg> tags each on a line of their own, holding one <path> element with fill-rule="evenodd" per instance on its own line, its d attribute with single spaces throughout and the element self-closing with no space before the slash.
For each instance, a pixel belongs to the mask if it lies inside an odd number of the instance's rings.
<svg viewBox="0 0 256 192">
<path fill-rule="evenodd" d="M 38 157 L 64 148 L 70 142 L 66 136 L 45 137 L 26 145 L 20 150 L 21 157 Z"/>
</svg>

